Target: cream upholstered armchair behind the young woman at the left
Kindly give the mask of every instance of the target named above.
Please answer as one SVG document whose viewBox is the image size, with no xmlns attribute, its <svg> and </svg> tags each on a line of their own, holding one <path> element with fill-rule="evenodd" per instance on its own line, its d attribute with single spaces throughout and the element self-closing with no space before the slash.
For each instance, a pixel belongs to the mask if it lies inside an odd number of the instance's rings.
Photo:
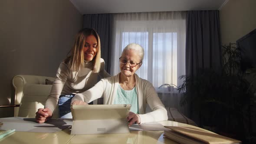
<svg viewBox="0 0 256 144">
<path fill-rule="evenodd" d="M 14 117 L 34 118 L 38 108 L 43 108 L 50 93 L 52 85 L 46 85 L 46 79 L 54 81 L 53 77 L 37 75 L 16 75 L 13 77 L 15 89 L 14 104 L 20 107 L 14 108 Z M 53 117 L 58 118 L 58 107 L 53 111 Z"/>
</svg>

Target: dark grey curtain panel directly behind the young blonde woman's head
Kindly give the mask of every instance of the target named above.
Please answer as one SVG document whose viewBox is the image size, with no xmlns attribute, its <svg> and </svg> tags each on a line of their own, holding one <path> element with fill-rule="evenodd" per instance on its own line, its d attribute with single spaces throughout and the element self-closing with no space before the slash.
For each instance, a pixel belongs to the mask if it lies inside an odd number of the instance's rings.
<svg viewBox="0 0 256 144">
<path fill-rule="evenodd" d="M 86 28 L 94 28 L 101 41 L 101 57 L 105 61 L 105 70 L 110 74 L 111 67 L 111 26 L 112 26 L 112 14 L 85 14 L 84 25 Z"/>
</svg>

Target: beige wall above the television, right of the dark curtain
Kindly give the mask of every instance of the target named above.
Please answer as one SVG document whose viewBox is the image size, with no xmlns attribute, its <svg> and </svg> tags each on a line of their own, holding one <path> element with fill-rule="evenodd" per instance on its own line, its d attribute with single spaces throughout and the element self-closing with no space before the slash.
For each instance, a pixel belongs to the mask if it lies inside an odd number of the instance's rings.
<svg viewBox="0 0 256 144">
<path fill-rule="evenodd" d="M 256 0 L 229 0 L 220 10 L 222 44 L 236 43 L 237 39 L 256 29 Z"/>
</svg>

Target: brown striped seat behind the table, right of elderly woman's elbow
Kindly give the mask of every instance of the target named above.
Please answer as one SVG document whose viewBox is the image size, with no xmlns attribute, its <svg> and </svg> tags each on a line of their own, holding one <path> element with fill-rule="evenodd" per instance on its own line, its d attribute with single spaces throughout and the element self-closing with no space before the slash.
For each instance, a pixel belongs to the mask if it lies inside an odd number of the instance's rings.
<svg viewBox="0 0 256 144">
<path fill-rule="evenodd" d="M 181 114 L 176 108 L 166 108 L 166 110 L 168 115 L 168 121 L 177 121 L 184 124 L 197 126 L 194 121 Z"/>
</svg>

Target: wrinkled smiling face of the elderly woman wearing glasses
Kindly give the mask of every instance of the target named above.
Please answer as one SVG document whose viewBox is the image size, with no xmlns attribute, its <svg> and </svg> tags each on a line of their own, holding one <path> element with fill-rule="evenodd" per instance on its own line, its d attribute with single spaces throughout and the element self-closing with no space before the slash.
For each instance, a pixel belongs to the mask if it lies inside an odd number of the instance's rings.
<svg viewBox="0 0 256 144">
<path fill-rule="evenodd" d="M 136 66 L 130 66 L 129 62 L 133 61 L 133 62 L 139 63 L 140 57 L 138 56 L 138 54 L 135 52 L 135 50 L 129 49 L 123 52 L 121 57 L 128 60 L 126 64 L 122 64 L 120 62 L 121 74 L 125 75 L 126 77 L 130 77 L 134 75 L 134 73 L 140 68 L 140 64 Z"/>
</svg>

